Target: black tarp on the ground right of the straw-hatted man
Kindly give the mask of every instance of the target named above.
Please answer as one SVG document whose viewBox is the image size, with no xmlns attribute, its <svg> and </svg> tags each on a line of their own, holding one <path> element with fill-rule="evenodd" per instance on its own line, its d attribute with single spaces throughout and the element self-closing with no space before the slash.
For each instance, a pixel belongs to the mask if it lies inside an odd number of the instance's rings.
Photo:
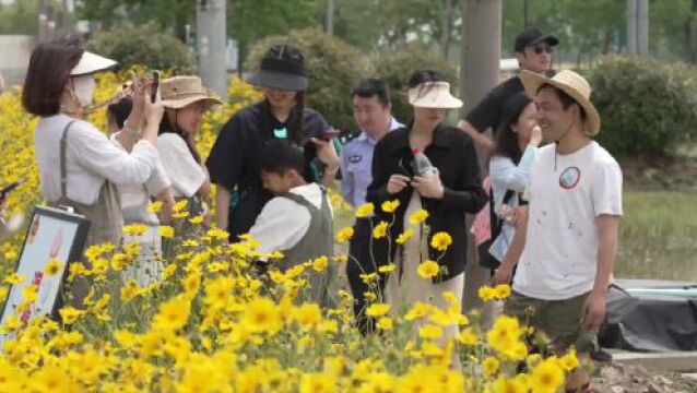
<svg viewBox="0 0 697 393">
<path fill-rule="evenodd" d="M 697 289 L 697 284 L 617 281 L 607 293 L 607 315 L 598 334 L 600 345 L 641 352 L 697 350 L 697 297 L 627 291 L 639 288 L 660 293 Z"/>
</svg>

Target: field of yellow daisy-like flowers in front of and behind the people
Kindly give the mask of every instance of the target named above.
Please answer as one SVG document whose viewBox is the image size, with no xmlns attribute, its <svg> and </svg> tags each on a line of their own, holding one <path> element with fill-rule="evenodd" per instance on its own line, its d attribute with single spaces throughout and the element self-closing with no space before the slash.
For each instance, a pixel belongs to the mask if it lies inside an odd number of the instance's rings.
<svg viewBox="0 0 697 393">
<path fill-rule="evenodd" d="M 102 79 L 97 100 L 119 81 L 116 75 Z M 200 151 L 206 154 L 229 116 L 257 98 L 258 93 L 234 79 L 228 104 L 205 117 L 198 135 Z M 103 112 L 93 117 L 104 124 Z M 26 179 L 11 194 L 10 212 L 28 212 L 40 203 L 34 122 L 19 104 L 19 91 L 0 96 L 0 183 Z M 381 209 L 390 212 L 397 205 L 390 202 Z M 374 206 L 366 205 L 357 214 L 373 212 Z M 426 217 L 421 211 L 412 222 Z M 138 236 L 144 228 L 134 225 L 125 231 Z M 387 241 L 388 231 L 387 223 L 376 228 L 374 241 Z M 27 285 L 27 277 L 10 274 L 22 236 L 2 243 L 7 278 L 0 296 L 4 300 L 9 285 L 21 285 L 24 300 L 15 317 L 0 326 L 7 338 L 0 353 L 0 392 L 537 393 L 559 391 L 565 376 L 580 367 L 572 352 L 547 358 L 529 355 L 531 330 L 507 317 L 485 329 L 479 312 L 463 313 L 449 293 L 442 294 L 447 308 L 417 302 L 403 310 L 371 294 L 367 313 L 375 318 L 376 333 L 363 337 L 354 327 L 353 299 L 345 290 L 334 294 L 339 306 L 332 309 L 298 300 L 309 290 L 310 273 L 354 263 L 349 255 L 324 255 L 281 272 L 273 266 L 283 255 L 265 254 L 270 270 L 259 274 L 253 261 L 261 254 L 255 239 L 229 245 L 224 230 L 206 229 L 200 217 L 186 216 L 161 233 L 172 237 L 174 252 L 163 261 L 162 281 L 149 286 L 118 283 L 107 275 L 139 263 L 139 242 L 91 247 L 85 252 L 91 269 L 70 263 L 60 322 L 22 322 L 37 288 Z M 345 242 L 352 236 L 353 230 L 344 229 L 336 239 Z M 445 252 L 451 241 L 440 233 L 433 246 Z M 386 266 L 380 274 L 394 267 Z M 49 260 L 45 272 L 60 269 Z M 430 281 L 438 274 L 437 262 L 424 262 L 420 274 Z M 377 273 L 364 275 L 369 283 L 376 278 Z M 75 279 L 92 283 L 81 303 L 70 295 Z M 508 286 L 482 290 L 486 300 L 509 294 Z M 449 326 L 458 326 L 459 333 L 448 336 Z M 525 372 L 516 372 L 519 364 L 528 364 Z"/>
</svg>

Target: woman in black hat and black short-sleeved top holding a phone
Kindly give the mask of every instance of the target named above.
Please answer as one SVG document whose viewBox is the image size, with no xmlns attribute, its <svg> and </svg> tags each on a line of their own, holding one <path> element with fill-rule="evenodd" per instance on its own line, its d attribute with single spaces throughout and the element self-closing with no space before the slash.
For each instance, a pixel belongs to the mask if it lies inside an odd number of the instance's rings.
<svg viewBox="0 0 697 393">
<path fill-rule="evenodd" d="M 263 87 L 264 99 L 235 114 L 223 127 L 205 163 L 216 184 L 215 221 L 231 240 L 246 234 L 271 194 L 261 187 L 259 152 L 269 140 L 287 140 L 305 151 L 304 177 L 330 186 L 339 170 L 330 130 L 317 111 L 305 108 L 308 80 L 303 53 L 288 45 L 271 47 L 249 83 Z M 315 158 L 320 170 L 311 165 Z"/>
</svg>

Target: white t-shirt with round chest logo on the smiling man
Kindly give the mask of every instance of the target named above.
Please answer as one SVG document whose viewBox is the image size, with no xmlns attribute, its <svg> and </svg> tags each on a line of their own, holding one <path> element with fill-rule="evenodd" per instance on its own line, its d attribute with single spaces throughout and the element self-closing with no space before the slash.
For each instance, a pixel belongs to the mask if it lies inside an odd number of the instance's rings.
<svg viewBox="0 0 697 393">
<path fill-rule="evenodd" d="M 622 169 L 596 142 L 560 155 L 540 148 L 531 167 L 528 236 L 513 290 L 569 299 L 593 288 L 600 215 L 622 215 Z"/>
</svg>

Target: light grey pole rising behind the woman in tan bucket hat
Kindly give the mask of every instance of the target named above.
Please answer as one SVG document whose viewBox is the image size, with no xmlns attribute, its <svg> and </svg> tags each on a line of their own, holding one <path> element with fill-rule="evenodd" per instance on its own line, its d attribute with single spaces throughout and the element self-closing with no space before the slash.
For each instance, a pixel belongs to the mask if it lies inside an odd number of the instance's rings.
<svg viewBox="0 0 697 393">
<path fill-rule="evenodd" d="M 199 72 L 203 83 L 223 99 L 227 95 L 225 0 L 198 0 L 196 17 Z"/>
</svg>

